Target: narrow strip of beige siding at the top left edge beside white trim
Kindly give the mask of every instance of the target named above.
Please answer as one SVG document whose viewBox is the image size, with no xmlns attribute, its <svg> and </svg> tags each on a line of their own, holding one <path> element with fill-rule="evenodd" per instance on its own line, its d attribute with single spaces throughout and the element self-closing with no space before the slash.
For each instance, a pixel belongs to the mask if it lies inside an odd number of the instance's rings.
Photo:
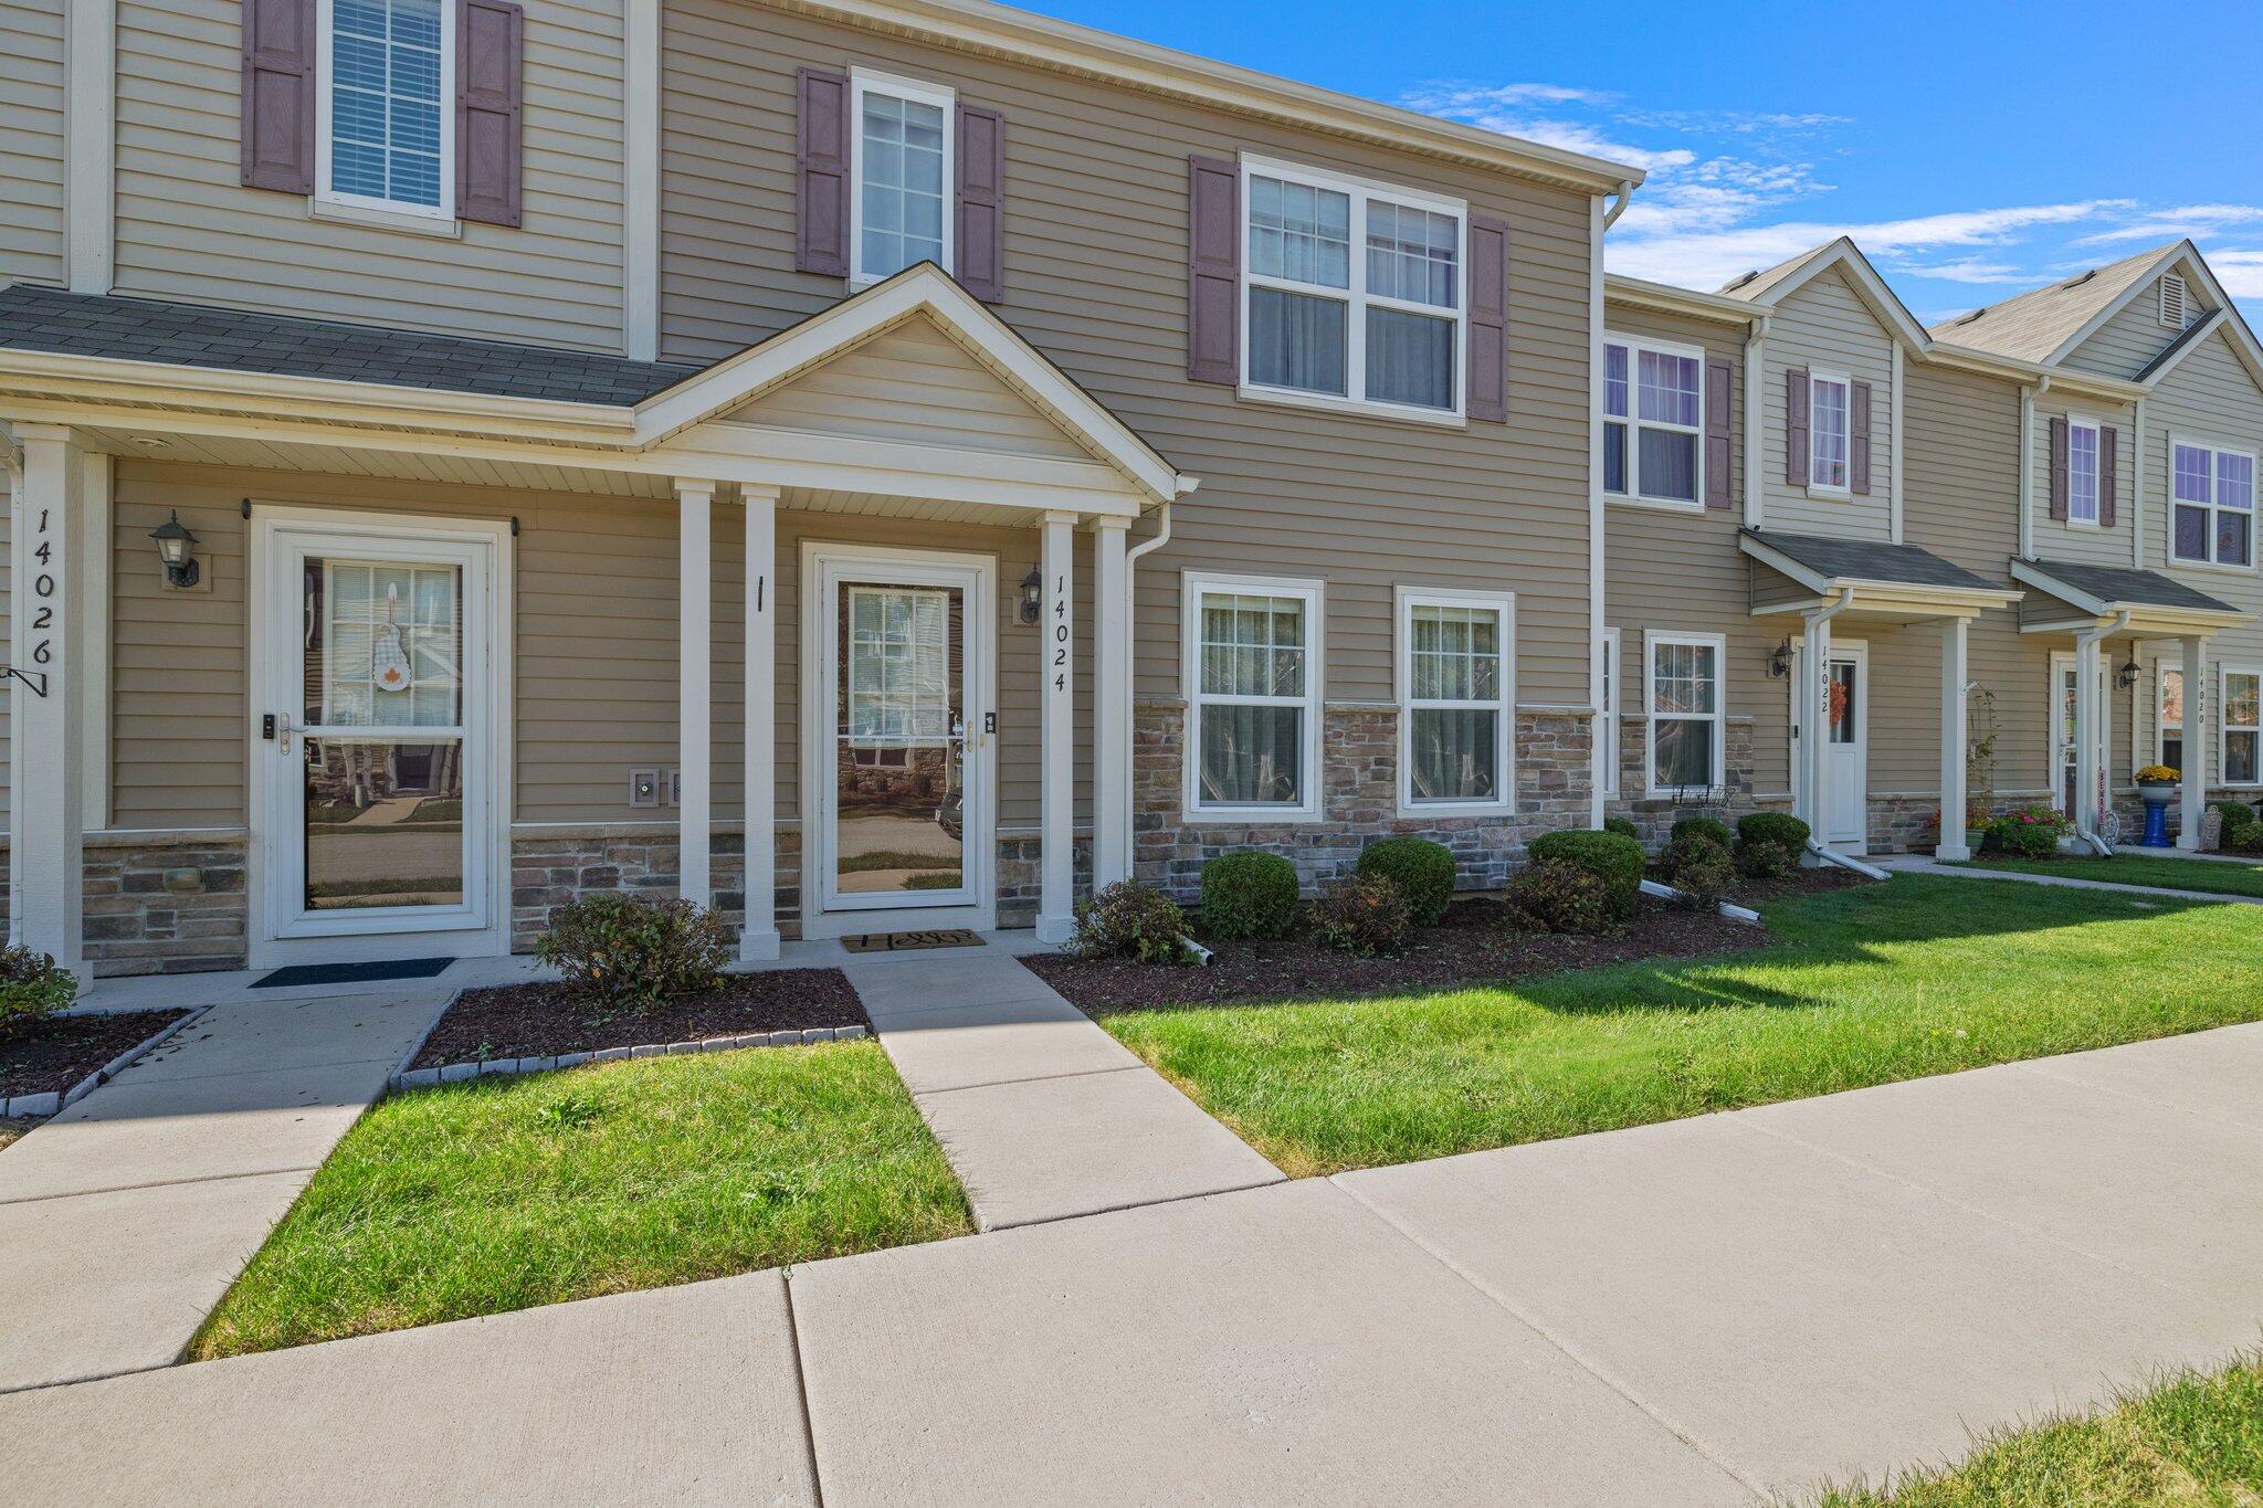
<svg viewBox="0 0 2263 1508">
<path fill-rule="evenodd" d="M 61 0 L 0 0 L 0 283 L 61 283 Z"/>
</svg>

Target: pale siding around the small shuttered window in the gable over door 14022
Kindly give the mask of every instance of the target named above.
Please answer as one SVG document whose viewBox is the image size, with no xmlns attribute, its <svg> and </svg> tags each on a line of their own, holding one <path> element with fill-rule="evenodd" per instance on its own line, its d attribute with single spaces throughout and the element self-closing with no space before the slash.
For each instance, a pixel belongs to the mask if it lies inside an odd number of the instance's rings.
<svg viewBox="0 0 2263 1508">
<path fill-rule="evenodd" d="M 1788 534 L 1883 540 L 1892 536 L 1894 488 L 1894 350 L 1892 337 L 1840 269 L 1831 269 L 1767 319 L 1767 382 L 1761 414 L 1765 484 L 1763 522 Z M 1835 371 L 1869 382 L 1869 495 L 1822 497 L 1792 488 L 1786 473 L 1786 375 L 1792 369 Z"/>
</svg>

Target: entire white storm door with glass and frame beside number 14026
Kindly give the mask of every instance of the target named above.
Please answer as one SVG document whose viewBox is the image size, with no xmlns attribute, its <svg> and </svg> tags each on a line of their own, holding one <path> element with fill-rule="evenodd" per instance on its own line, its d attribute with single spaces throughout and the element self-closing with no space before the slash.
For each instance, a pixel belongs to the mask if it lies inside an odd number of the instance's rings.
<svg viewBox="0 0 2263 1508">
<path fill-rule="evenodd" d="M 251 963 L 507 947 L 502 527 L 253 515 Z"/>
</svg>

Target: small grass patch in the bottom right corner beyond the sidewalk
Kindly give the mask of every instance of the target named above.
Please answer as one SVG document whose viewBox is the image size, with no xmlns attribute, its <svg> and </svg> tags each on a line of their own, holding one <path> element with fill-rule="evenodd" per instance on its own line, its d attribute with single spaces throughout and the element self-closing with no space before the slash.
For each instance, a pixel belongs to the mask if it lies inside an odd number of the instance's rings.
<svg viewBox="0 0 2263 1508">
<path fill-rule="evenodd" d="M 2256 1508 L 2263 1503 L 2263 1361 L 2184 1372 L 2086 1420 L 1996 1436 L 1944 1472 L 1887 1490 L 1826 1492 L 1822 1508 Z"/>
</svg>

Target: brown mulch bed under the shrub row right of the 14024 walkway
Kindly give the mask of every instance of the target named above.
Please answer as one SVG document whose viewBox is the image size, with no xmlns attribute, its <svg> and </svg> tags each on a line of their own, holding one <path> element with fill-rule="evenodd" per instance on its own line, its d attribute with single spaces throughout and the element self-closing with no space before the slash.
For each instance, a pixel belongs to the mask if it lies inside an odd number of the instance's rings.
<svg viewBox="0 0 2263 1508">
<path fill-rule="evenodd" d="M 1833 886 L 1835 889 L 1835 886 Z M 1084 1011 L 1154 1011 L 1279 999 L 1349 999 L 1478 988 L 1641 959 L 1693 959 L 1763 947 L 1767 931 L 1718 911 L 1643 898 L 1634 920 L 1602 936 L 1509 931 L 1500 902 L 1457 900 L 1437 927 L 1417 927 L 1396 959 L 1356 959 L 1306 936 L 1224 943 L 1206 968 L 1034 954 L 1023 959 Z"/>
</svg>

